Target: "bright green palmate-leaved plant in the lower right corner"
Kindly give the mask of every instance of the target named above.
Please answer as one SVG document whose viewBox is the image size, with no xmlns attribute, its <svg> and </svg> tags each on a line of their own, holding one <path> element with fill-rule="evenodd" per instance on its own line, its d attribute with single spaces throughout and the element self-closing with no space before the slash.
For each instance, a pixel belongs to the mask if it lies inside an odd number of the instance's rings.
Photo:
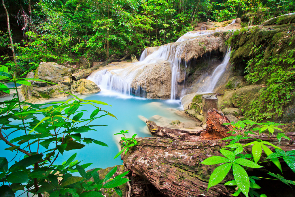
<svg viewBox="0 0 295 197">
<path fill-rule="evenodd" d="M 235 193 L 232 194 L 233 196 L 238 196 L 240 192 L 242 192 L 245 196 L 259 196 L 258 193 L 255 191 L 255 189 L 259 189 L 260 186 L 255 183 L 255 180 L 260 180 L 260 178 L 264 177 L 249 177 L 247 173 L 248 168 L 260 168 L 263 166 L 260 166 L 260 163 L 263 162 L 273 162 L 282 172 L 281 164 L 279 162 L 279 159 L 282 158 L 286 164 L 293 170 L 295 173 L 295 151 L 283 151 L 278 146 L 273 145 L 272 143 L 268 141 L 253 141 L 251 143 L 247 143 L 245 145 L 242 145 L 240 141 L 242 142 L 245 139 L 254 138 L 255 135 L 260 135 L 260 133 L 264 132 L 266 129 L 269 131 L 269 135 L 273 134 L 273 129 L 279 129 L 277 126 L 282 125 L 274 122 L 266 122 L 266 123 L 256 123 L 249 120 L 239 121 L 237 123 L 224 123 L 225 125 L 231 124 L 233 127 L 233 130 L 231 133 L 240 133 L 241 135 L 236 136 L 230 136 L 223 138 L 222 140 L 231 140 L 229 142 L 229 145 L 224 146 L 220 152 L 224 156 L 211 156 L 205 159 L 201 164 L 205 165 L 214 165 L 214 164 L 222 164 L 219 165 L 214 169 L 212 174 L 210 175 L 208 189 L 214 185 L 217 185 L 218 183 L 222 182 L 226 175 L 230 172 L 230 169 L 232 169 L 232 173 L 234 175 L 234 180 L 228 181 L 224 183 L 224 185 L 227 186 L 238 186 L 238 189 L 236 189 Z M 258 125 L 260 127 L 253 128 L 254 125 Z M 259 131 L 259 133 L 254 133 L 255 131 Z M 254 134 L 250 137 L 247 136 L 249 133 Z M 287 139 L 287 138 L 286 138 Z M 290 139 L 289 139 L 290 140 Z M 248 154 L 247 151 L 245 151 L 244 147 L 246 146 L 252 146 L 251 154 Z M 272 146 L 275 148 L 276 153 L 273 153 L 267 146 Z M 265 158 L 266 161 L 259 162 L 261 159 L 262 150 L 266 153 L 267 158 Z M 289 185 L 293 184 L 295 185 L 295 182 L 292 180 L 286 180 L 281 175 L 273 174 L 271 172 L 267 173 L 273 177 L 276 177 L 277 179 L 274 180 L 280 180 L 283 183 Z M 267 178 L 270 179 L 270 178 Z M 263 196 L 263 195 L 261 195 Z"/>
</svg>

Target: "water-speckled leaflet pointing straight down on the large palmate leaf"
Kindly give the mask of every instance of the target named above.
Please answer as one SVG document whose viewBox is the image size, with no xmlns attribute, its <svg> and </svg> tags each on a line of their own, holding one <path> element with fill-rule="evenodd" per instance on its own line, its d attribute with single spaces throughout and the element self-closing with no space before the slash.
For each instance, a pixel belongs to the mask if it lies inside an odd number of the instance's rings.
<svg viewBox="0 0 295 197">
<path fill-rule="evenodd" d="M 250 189 L 250 181 L 249 181 L 247 172 L 242 166 L 235 163 L 232 164 L 232 172 L 234 174 L 234 178 L 237 183 L 237 186 L 240 188 L 242 193 L 248 197 L 248 193 Z"/>
</svg>

